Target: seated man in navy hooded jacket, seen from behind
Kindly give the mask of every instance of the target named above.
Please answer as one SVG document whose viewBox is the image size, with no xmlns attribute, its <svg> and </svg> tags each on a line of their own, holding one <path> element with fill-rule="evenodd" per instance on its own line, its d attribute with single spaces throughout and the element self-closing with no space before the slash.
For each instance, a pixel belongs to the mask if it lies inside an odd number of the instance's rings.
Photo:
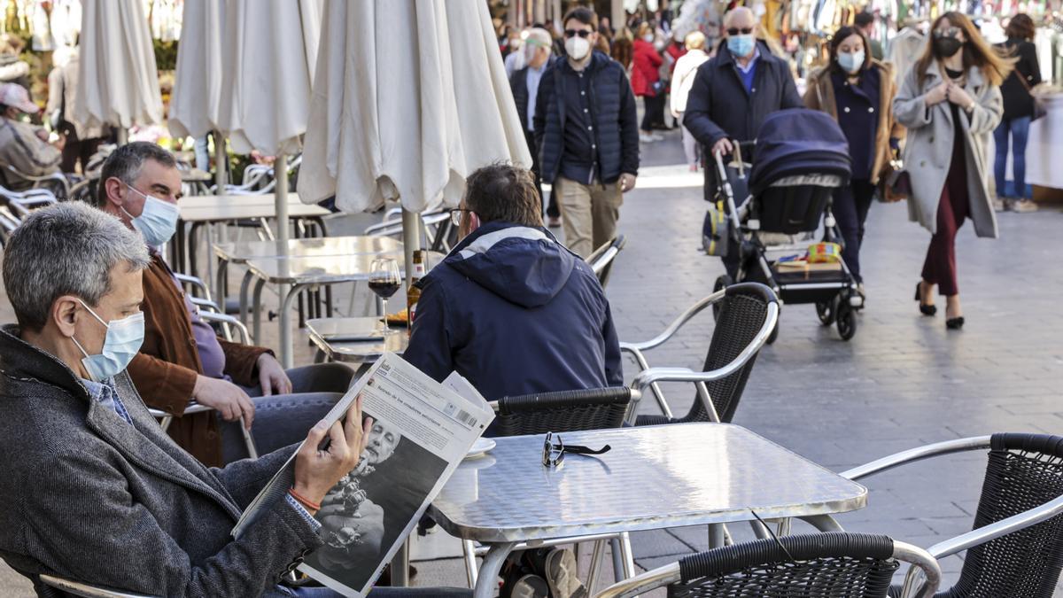
<svg viewBox="0 0 1063 598">
<path fill-rule="evenodd" d="M 500 164 L 466 183 L 466 236 L 418 282 L 406 361 L 438 381 L 457 371 L 488 400 L 623 385 L 609 301 L 543 228 L 532 172 Z"/>
</svg>

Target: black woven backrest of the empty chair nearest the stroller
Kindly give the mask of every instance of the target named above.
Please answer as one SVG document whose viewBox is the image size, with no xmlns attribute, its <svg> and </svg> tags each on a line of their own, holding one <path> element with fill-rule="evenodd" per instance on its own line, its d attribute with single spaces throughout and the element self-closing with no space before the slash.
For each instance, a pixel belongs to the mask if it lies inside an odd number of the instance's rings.
<svg viewBox="0 0 1063 598">
<path fill-rule="evenodd" d="M 777 302 L 777 299 L 766 286 L 749 283 L 728 286 L 720 302 L 716 326 L 712 331 L 712 342 L 705 358 L 704 370 L 710 371 L 729 364 L 748 347 L 764 326 L 767 305 L 773 302 Z M 735 417 L 735 410 L 742 399 L 745 382 L 756 361 L 757 355 L 754 355 L 735 373 L 706 383 L 712 404 L 720 415 L 720 421 L 728 422 Z M 682 420 L 711 421 L 711 418 L 702 401 L 695 399 Z"/>
</svg>

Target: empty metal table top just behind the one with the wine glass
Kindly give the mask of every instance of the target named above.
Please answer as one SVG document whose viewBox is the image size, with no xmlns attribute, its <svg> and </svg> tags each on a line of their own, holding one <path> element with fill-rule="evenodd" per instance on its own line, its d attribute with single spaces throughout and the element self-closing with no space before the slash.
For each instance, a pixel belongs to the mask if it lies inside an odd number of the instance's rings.
<svg viewBox="0 0 1063 598">
<path fill-rule="evenodd" d="M 402 242 L 386 236 L 327 236 L 288 239 L 287 255 L 291 258 L 323 258 L 350 254 L 394 253 L 402 260 Z M 279 240 L 244 240 L 218 243 L 214 254 L 220 260 L 242 264 L 255 258 L 280 258 L 285 254 Z"/>
</svg>

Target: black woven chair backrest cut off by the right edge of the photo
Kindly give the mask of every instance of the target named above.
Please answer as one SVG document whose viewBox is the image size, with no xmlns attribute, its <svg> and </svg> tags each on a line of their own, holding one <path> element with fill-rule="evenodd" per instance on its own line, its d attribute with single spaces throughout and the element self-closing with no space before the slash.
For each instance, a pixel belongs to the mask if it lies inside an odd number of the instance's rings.
<svg viewBox="0 0 1063 598">
<path fill-rule="evenodd" d="M 994 434 L 975 529 L 1063 496 L 1063 436 Z M 1050 598 L 1063 567 L 1063 515 L 967 550 L 956 596 Z"/>
</svg>

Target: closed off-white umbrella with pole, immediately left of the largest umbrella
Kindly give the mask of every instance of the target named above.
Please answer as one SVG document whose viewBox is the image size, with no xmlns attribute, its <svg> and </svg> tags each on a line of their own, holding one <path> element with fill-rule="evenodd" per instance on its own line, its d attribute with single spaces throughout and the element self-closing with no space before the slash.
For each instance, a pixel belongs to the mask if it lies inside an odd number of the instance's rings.
<svg viewBox="0 0 1063 598">
<path fill-rule="evenodd" d="M 275 155 L 276 239 L 288 247 L 288 155 L 306 132 L 322 0 L 229 0 L 222 38 L 218 127 L 234 151 Z M 302 177 L 300 177 L 302 179 Z M 281 288 L 281 297 L 285 289 Z M 289 314 L 282 310 L 281 363 L 291 367 Z"/>
</svg>

